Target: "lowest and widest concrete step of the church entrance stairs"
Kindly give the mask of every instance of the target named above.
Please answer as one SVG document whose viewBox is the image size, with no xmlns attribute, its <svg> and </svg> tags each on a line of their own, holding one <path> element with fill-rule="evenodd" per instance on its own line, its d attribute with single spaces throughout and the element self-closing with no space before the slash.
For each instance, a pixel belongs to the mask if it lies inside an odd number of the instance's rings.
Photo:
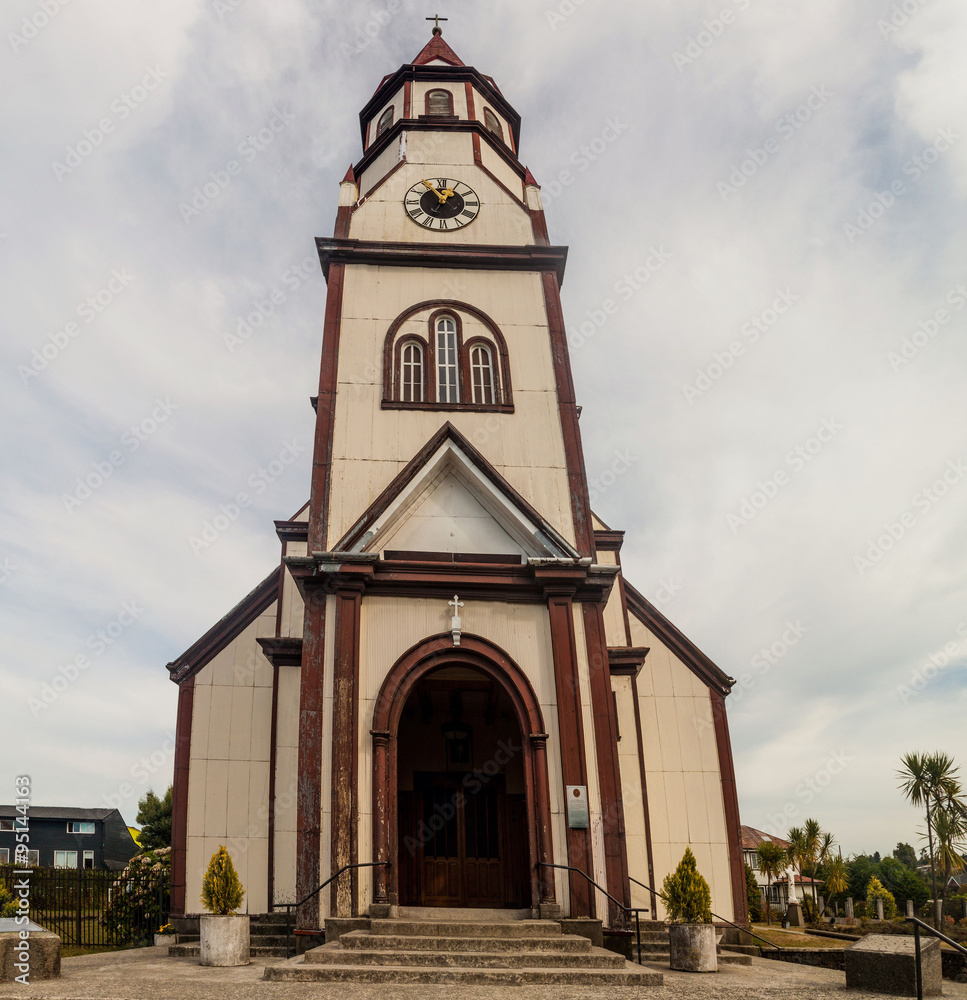
<svg viewBox="0 0 967 1000">
<path fill-rule="evenodd" d="M 447 986 L 653 986 L 660 972 L 625 963 L 623 969 L 461 969 L 412 966 L 315 965 L 266 966 L 263 979 L 296 983 L 440 983 Z"/>
</svg>

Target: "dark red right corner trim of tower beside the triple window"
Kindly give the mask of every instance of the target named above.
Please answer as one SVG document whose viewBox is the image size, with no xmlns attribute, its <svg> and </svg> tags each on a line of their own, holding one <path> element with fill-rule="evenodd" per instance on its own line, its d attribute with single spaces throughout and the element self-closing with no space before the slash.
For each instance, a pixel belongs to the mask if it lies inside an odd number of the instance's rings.
<svg viewBox="0 0 967 1000">
<path fill-rule="evenodd" d="M 594 529 L 591 502 L 588 497 L 588 477 L 584 467 L 581 431 L 578 428 L 577 401 L 574 379 L 564 330 L 564 308 L 561 305 L 560 280 L 553 271 L 542 275 L 544 304 L 547 309 L 547 326 L 551 337 L 554 359 L 554 379 L 557 385 L 557 405 L 564 438 L 564 456 L 571 494 L 571 515 L 574 519 L 574 537 L 582 556 L 594 554 Z"/>
</svg>

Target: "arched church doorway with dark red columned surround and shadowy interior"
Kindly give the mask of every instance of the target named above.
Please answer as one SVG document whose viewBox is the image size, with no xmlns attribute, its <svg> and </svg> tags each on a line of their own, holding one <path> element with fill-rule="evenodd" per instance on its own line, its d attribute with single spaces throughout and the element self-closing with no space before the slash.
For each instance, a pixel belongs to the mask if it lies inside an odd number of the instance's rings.
<svg viewBox="0 0 967 1000">
<path fill-rule="evenodd" d="M 554 902 L 547 735 L 520 668 L 449 634 L 411 649 L 373 715 L 375 903 Z"/>
</svg>

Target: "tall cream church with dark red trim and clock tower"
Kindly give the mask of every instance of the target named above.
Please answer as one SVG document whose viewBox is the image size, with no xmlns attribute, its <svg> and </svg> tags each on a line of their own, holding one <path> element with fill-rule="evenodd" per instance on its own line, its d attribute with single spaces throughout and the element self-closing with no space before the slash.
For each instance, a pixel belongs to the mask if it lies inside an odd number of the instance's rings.
<svg viewBox="0 0 967 1000">
<path fill-rule="evenodd" d="M 567 248 L 520 126 L 439 27 L 360 113 L 316 241 L 308 502 L 275 522 L 279 564 L 168 665 L 176 915 L 224 844 L 249 913 L 347 869 L 300 907 L 305 934 L 406 906 L 620 928 L 592 882 L 661 919 L 646 886 L 690 846 L 713 911 L 746 920 L 733 682 L 590 509 Z"/>
</svg>

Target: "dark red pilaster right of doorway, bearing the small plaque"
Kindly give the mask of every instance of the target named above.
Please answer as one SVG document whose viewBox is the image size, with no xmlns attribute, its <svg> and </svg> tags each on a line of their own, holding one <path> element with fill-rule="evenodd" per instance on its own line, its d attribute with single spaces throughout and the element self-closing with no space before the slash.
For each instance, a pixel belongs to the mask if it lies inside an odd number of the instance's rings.
<svg viewBox="0 0 967 1000">
<path fill-rule="evenodd" d="M 554 657 L 554 684 L 557 692 L 557 720 L 560 734 L 561 779 L 564 785 L 587 785 L 584 749 L 584 720 L 581 712 L 581 682 L 578 678 L 577 646 L 570 596 L 552 594 L 547 600 Z M 593 876 L 594 864 L 590 830 L 567 830 L 568 864 Z M 594 893 L 588 883 L 573 872 L 568 874 L 571 916 L 595 915 Z"/>
</svg>

